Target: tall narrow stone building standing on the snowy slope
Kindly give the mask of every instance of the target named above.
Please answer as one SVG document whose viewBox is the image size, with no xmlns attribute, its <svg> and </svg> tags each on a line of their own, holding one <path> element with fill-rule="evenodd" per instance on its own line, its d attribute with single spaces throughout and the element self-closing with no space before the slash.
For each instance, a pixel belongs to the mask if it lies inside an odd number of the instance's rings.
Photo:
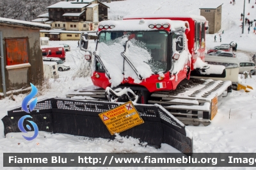
<svg viewBox="0 0 256 170">
<path fill-rule="evenodd" d="M 205 4 L 200 9 L 200 15 L 204 16 L 208 20 L 209 33 L 214 34 L 221 29 L 221 8 L 220 3 Z"/>
</svg>

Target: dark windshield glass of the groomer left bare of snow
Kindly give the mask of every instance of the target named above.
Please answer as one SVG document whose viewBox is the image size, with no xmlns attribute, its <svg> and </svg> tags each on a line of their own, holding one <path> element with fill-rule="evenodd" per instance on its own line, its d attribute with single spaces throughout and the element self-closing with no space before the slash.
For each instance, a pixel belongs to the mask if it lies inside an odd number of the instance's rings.
<svg viewBox="0 0 256 170">
<path fill-rule="evenodd" d="M 101 32 L 99 35 L 99 43 L 111 45 L 114 43 L 119 43 L 118 40 L 120 40 L 120 38 L 127 38 L 127 40 L 129 40 L 133 45 L 140 47 L 140 49 L 147 50 L 148 54 L 150 54 L 150 59 L 148 59 L 148 61 L 145 63 L 150 66 L 152 72 L 158 73 L 166 71 L 168 42 L 168 33 L 166 31 Z M 133 58 L 140 56 L 136 55 L 136 53 L 134 53 L 134 55 L 135 56 L 132 56 Z M 96 69 L 102 70 L 99 63 L 97 63 Z"/>
</svg>

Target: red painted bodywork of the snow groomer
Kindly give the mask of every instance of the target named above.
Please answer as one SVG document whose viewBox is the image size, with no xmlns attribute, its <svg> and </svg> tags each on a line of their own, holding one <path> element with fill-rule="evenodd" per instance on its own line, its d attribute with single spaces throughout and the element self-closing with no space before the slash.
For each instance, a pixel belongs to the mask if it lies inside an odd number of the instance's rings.
<svg viewBox="0 0 256 170">
<path fill-rule="evenodd" d="M 141 19 L 141 18 L 132 18 L 132 19 Z M 181 70 L 178 75 L 177 75 L 177 79 L 176 76 L 173 75 L 172 77 L 170 77 L 170 72 L 166 72 L 164 74 L 164 79 L 163 81 L 159 81 L 157 79 L 157 77 L 159 77 L 159 75 L 151 75 L 150 77 L 148 77 L 147 79 L 143 80 L 140 84 L 136 84 L 136 85 L 140 85 L 140 86 L 144 86 L 145 88 L 148 89 L 148 91 L 150 92 L 154 92 L 154 91 L 166 91 L 166 90 L 173 90 L 177 88 L 177 85 L 179 84 L 180 81 L 182 81 L 183 79 L 186 78 L 187 76 L 187 66 L 190 66 L 190 70 L 194 70 L 193 67 L 193 63 L 195 63 L 196 58 L 201 58 L 202 61 L 204 61 L 205 58 L 205 40 L 204 43 L 200 43 L 200 48 L 196 50 L 196 54 L 195 54 L 195 50 L 194 50 L 194 43 L 195 43 L 195 20 L 193 20 L 192 18 L 188 18 L 188 17 L 174 17 L 174 18 L 170 18 L 170 17 L 161 17 L 161 18 L 143 18 L 143 19 L 170 19 L 170 20 L 183 20 L 183 21 L 188 21 L 189 22 L 189 29 L 190 31 L 186 34 L 187 38 L 188 38 L 188 50 L 191 53 L 191 63 L 187 63 L 187 65 L 184 66 L 184 69 Z M 129 19 L 130 20 L 130 19 Z M 197 20 L 198 21 L 198 20 Z M 206 22 L 206 20 L 204 20 L 204 22 Z M 102 29 L 99 29 L 99 31 L 101 31 Z M 166 29 L 165 29 L 166 30 Z M 167 30 L 170 31 L 170 30 Z M 201 42 L 201 32 L 200 32 L 200 42 Z M 95 73 L 99 74 L 100 77 L 96 78 L 94 75 Z M 189 72 L 190 73 L 190 72 Z M 189 74 L 188 74 L 188 79 L 189 79 Z M 93 76 L 92 76 L 92 81 L 93 84 L 95 86 L 100 86 L 104 89 L 106 89 L 108 86 L 111 86 L 111 84 L 108 81 L 108 78 L 105 76 L 105 73 L 100 73 L 100 72 L 94 72 Z M 157 82 L 165 82 L 166 87 L 165 88 L 157 88 L 156 83 Z M 128 79 L 125 79 L 122 84 L 135 84 L 134 80 L 131 79 L 130 77 Z"/>
</svg>

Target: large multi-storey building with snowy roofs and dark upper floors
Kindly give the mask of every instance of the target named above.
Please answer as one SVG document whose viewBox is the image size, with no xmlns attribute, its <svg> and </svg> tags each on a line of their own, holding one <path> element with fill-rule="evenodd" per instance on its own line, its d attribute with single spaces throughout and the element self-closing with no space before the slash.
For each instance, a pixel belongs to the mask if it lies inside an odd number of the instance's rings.
<svg viewBox="0 0 256 170">
<path fill-rule="evenodd" d="M 97 0 L 61 1 L 32 22 L 49 24 L 52 29 L 93 31 L 100 21 L 108 20 L 108 8 Z"/>
</svg>

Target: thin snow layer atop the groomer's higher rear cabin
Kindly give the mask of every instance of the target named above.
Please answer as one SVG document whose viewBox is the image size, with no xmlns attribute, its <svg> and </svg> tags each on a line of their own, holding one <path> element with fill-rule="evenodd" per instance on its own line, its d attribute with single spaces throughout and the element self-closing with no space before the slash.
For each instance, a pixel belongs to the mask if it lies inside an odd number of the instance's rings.
<svg viewBox="0 0 256 170">
<path fill-rule="evenodd" d="M 206 20 L 205 17 L 201 15 L 173 15 L 173 14 L 144 14 L 144 15 L 127 15 L 123 19 L 150 19 L 150 18 L 191 18 L 194 20 Z"/>
</svg>

